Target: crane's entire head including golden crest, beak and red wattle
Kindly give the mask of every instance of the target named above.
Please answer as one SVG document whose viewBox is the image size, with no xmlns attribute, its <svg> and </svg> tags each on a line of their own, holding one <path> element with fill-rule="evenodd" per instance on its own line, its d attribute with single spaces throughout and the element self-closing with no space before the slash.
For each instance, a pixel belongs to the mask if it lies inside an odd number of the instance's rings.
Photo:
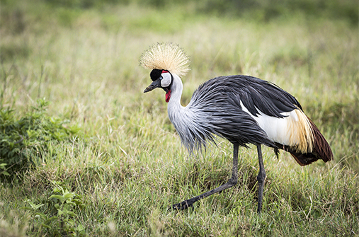
<svg viewBox="0 0 359 237">
<path fill-rule="evenodd" d="M 184 76 L 189 71 L 189 58 L 185 52 L 171 42 L 157 43 L 144 51 L 139 59 L 139 65 L 146 69 L 152 69 L 152 83 L 147 86 L 144 93 L 162 88 L 166 91 L 166 102 L 171 97 L 171 84 L 173 75 Z"/>
</svg>

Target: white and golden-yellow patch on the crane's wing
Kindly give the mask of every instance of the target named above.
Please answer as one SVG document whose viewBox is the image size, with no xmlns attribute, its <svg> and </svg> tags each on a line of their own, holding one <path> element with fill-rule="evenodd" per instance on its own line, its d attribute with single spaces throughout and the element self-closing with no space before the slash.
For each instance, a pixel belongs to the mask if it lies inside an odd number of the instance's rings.
<svg viewBox="0 0 359 237">
<path fill-rule="evenodd" d="M 286 117 L 271 117 L 256 108 L 259 115 L 254 116 L 241 102 L 244 112 L 247 112 L 266 132 L 270 140 L 286 146 L 294 146 L 297 151 L 309 153 L 313 150 L 314 137 L 312 127 L 302 110 L 295 109 L 290 112 L 281 112 Z"/>
</svg>

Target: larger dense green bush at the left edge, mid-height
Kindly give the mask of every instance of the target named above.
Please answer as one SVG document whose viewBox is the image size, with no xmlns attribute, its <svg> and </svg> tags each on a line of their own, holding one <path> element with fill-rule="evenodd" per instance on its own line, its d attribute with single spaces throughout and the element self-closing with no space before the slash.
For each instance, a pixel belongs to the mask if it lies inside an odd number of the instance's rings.
<svg viewBox="0 0 359 237">
<path fill-rule="evenodd" d="M 20 120 L 16 120 L 14 110 L 0 108 L 0 178 L 14 176 L 30 163 L 44 160 L 44 154 L 55 157 L 51 147 L 79 132 L 76 126 L 64 126 L 68 120 L 47 116 L 48 105 L 47 100 L 39 99 Z"/>
</svg>

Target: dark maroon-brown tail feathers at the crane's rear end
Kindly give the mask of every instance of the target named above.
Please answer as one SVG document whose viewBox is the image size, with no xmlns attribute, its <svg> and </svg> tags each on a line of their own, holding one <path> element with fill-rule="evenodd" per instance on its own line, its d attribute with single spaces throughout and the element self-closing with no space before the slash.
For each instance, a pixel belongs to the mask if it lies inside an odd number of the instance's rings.
<svg viewBox="0 0 359 237">
<path fill-rule="evenodd" d="M 312 120 L 310 120 L 309 118 L 308 120 L 310 126 L 312 127 L 314 139 L 314 147 L 312 149 L 312 152 L 300 152 L 298 151 L 296 146 L 283 146 L 281 144 L 278 144 L 278 146 L 283 150 L 289 152 L 293 156 L 293 158 L 295 158 L 295 161 L 300 164 L 300 166 L 307 166 L 314 161 L 318 161 L 319 159 L 323 160 L 324 162 L 333 160 L 333 153 L 328 142 L 324 138 L 323 134 L 319 132 L 317 126 L 314 125 L 314 122 L 312 122 Z"/>
</svg>

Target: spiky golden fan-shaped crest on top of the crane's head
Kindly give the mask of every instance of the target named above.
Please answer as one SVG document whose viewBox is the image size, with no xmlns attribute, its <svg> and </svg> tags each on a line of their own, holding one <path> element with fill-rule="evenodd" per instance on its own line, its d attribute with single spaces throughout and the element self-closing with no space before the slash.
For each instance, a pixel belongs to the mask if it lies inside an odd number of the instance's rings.
<svg viewBox="0 0 359 237">
<path fill-rule="evenodd" d="M 157 42 L 139 58 L 139 66 L 145 69 L 164 69 L 178 76 L 187 74 L 189 62 L 183 49 L 172 42 Z"/>
</svg>

